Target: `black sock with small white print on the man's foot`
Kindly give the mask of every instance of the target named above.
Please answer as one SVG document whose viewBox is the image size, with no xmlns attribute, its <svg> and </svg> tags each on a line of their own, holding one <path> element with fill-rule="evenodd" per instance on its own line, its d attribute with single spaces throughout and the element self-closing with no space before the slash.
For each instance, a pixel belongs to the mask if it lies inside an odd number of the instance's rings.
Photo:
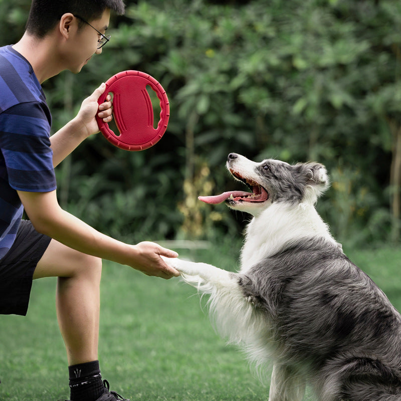
<svg viewBox="0 0 401 401">
<path fill-rule="evenodd" d="M 68 367 L 71 401 L 96 401 L 103 394 L 99 361 L 79 363 Z"/>
</svg>

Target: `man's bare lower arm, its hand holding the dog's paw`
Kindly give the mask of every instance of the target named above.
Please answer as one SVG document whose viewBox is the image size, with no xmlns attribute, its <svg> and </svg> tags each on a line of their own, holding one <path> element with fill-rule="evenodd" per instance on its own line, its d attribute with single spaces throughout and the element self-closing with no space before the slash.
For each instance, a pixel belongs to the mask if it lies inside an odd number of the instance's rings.
<svg viewBox="0 0 401 401">
<path fill-rule="evenodd" d="M 56 191 L 18 191 L 24 209 L 35 229 L 62 244 L 88 255 L 128 265 L 149 276 L 171 278 L 179 272 L 168 266 L 160 255 L 177 254 L 152 242 L 128 245 L 99 233 L 60 208 Z"/>
</svg>

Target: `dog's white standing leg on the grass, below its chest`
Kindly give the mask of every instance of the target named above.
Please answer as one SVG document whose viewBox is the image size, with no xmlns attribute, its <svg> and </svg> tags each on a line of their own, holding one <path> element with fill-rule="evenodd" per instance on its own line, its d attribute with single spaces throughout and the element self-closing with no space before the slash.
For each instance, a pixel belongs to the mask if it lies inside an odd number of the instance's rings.
<svg viewBox="0 0 401 401">
<path fill-rule="evenodd" d="M 274 365 L 269 401 L 301 401 L 305 394 L 305 379 L 294 368 Z"/>
</svg>

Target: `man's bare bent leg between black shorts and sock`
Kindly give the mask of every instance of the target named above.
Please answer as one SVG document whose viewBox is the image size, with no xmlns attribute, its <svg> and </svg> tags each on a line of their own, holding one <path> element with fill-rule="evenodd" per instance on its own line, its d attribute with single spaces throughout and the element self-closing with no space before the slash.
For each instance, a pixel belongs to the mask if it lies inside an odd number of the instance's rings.
<svg viewBox="0 0 401 401">
<path fill-rule="evenodd" d="M 58 277 L 56 309 L 69 365 L 98 359 L 102 261 L 52 240 L 34 279 Z"/>
</svg>

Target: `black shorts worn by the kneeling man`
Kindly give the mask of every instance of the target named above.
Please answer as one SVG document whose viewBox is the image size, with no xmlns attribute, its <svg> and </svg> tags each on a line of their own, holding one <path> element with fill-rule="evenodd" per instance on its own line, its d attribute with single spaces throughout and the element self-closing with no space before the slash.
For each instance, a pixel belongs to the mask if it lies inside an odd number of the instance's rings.
<svg viewBox="0 0 401 401">
<path fill-rule="evenodd" d="M 21 221 L 13 246 L 0 260 L 0 314 L 27 314 L 35 268 L 50 241 L 29 220 Z"/>
</svg>

